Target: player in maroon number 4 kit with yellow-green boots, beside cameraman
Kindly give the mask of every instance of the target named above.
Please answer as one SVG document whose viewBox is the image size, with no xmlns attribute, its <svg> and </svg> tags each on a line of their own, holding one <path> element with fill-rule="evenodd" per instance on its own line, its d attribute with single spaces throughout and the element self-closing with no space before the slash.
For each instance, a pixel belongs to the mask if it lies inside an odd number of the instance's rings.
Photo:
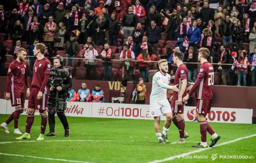
<svg viewBox="0 0 256 163">
<path fill-rule="evenodd" d="M 33 67 L 33 79 L 29 96 L 28 117 L 26 121 L 26 132 L 16 139 L 30 139 L 30 129 L 34 122 L 35 110 L 39 110 L 41 115 L 41 133 L 36 139 L 42 141 L 47 125 L 47 102 L 48 102 L 48 79 L 51 71 L 51 62 L 45 58 L 46 46 L 42 43 L 35 44 L 33 50 L 36 57 Z"/>
</svg>

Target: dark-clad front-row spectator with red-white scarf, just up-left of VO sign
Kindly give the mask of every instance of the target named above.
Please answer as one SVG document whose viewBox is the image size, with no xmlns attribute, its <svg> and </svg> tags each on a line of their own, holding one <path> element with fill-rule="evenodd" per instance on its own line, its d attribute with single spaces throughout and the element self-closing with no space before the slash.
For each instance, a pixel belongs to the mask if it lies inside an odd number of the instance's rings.
<svg viewBox="0 0 256 163">
<path fill-rule="evenodd" d="M 112 81 L 112 62 L 111 60 L 115 58 L 115 55 L 110 49 L 108 43 L 104 44 L 104 49 L 100 54 L 100 58 L 103 60 L 103 80 Z"/>
</svg>

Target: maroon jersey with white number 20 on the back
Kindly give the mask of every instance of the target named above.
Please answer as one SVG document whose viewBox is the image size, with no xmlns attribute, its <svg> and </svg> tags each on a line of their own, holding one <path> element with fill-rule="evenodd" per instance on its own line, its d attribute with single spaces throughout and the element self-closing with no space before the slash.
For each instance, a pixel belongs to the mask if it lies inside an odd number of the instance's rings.
<svg viewBox="0 0 256 163">
<path fill-rule="evenodd" d="M 197 77 L 201 78 L 197 99 L 212 99 L 214 95 L 214 67 L 209 62 L 204 62 L 198 67 Z"/>
</svg>

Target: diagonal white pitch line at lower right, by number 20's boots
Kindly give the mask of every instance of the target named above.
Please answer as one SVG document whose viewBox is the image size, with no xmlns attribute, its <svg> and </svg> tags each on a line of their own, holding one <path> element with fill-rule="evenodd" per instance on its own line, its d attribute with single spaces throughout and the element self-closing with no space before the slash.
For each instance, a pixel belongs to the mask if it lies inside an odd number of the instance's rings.
<svg viewBox="0 0 256 163">
<path fill-rule="evenodd" d="M 241 141 L 242 139 L 250 138 L 250 137 L 253 137 L 253 136 L 256 136 L 256 134 L 245 136 L 245 137 L 240 137 L 240 138 L 237 138 L 237 139 L 233 139 L 232 141 L 228 141 L 228 142 L 223 142 L 223 143 L 218 144 L 214 147 L 223 146 L 223 145 L 226 145 L 226 144 L 229 144 L 229 143 L 238 142 L 238 141 Z M 180 155 L 164 158 L 164 159 L 161 159 L 161 160 L 154 160 L 154 161 L 151 161 L 151 162 L 148 162 L 148 163 L 158 163 L 158 162 L 170 161 L 170 160 L 173 160 L 175 158 L 181 158 L 181 157 L 184 157 L 184 156 L 187 156 L 187 155 L 190 155 L 190 154 L 206 151 L 206 150 L 209 150 L 209 149 L 211 149 L 211 148 L 209 148 L 209 147 L 208 148 L 200 148 L 200 149 L 195 150 L 195 151 L 191 151 L 191 152 L 183 153 L 183 154 L 180 154 Z"/>
</svg>

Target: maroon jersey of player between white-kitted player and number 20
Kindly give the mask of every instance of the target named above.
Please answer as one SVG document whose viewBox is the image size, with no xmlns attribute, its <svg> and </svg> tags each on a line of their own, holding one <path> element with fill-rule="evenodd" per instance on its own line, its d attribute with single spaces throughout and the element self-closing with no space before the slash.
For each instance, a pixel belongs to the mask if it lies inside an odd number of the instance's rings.
<svg viewBox="0 0 256 163">
<path fill-rule="evenodd" d="M 187 79 L 188 78 L 188 71 L 187 71 L 187 67 L 184 64 L 181 64 L 178 68 L 177 71 L 175 73 L 175 77 L 174 77 L 174 85 L 177 85 L 177 88 L 181 89 L 181 84 L 182 84 L 182 80 L 183 79 Z M 179 92 L 174 91 L 174 97 L 173 100 L 178 100 L 178 96 L 179 96 Z M 186 92 L 184 92 L 182 97 L 186 96 Z"/>
</svg>

